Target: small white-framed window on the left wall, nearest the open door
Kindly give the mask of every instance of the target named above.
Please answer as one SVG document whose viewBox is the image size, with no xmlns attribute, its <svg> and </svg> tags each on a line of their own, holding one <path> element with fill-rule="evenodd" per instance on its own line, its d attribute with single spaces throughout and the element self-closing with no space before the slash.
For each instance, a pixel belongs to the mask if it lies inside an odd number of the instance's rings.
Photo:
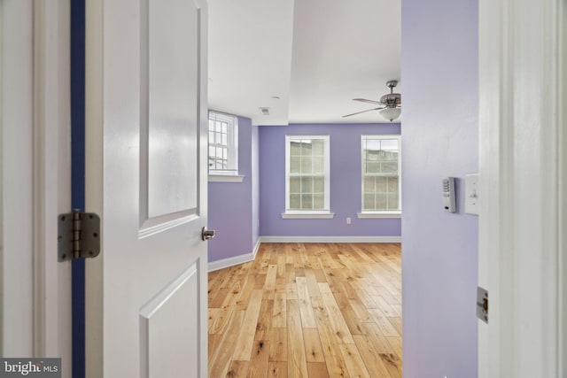
<svg viewBox="0 0 567 378">
<path fill-rule="evenodd" d="M 209 112 L 209 175 L 237 176 L 238 120 L 237 117 Z M 218 181 L 233 181 L 221 180 Z M 211 180 L 210 181 L 217 181 Z M 242 180 L 238 180 L 242 181 Z"/>
</svg>

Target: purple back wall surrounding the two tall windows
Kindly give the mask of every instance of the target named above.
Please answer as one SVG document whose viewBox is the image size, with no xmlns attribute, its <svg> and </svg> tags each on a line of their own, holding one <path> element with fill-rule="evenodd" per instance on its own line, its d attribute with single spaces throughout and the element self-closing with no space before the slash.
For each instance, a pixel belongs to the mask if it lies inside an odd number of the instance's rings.
<svg viewBox="0 0 567 378">
<path fill-rule="evenodd" d="M 282 219 L 285 135 L 330 135 L 331 220 Z M 399 123 L 260 126 L 260 235 L 400 236 L 400 219 L 358 219 L 361 212 L 361 135 L 398 135 Z M 404 149 L 402 141 L 402 150 Z M 346 224 L 346 218 L 352 224 Z"/>
</svg>

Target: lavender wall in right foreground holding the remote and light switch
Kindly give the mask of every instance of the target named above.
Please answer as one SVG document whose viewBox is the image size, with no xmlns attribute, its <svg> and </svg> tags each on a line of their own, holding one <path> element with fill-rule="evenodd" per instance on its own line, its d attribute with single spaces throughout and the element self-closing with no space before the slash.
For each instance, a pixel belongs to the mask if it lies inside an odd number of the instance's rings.
<svg viewBox="0 0 567 378">
<path fill-rule="evenodd" d="M 462 181 L 478 171 L 478 2 L 404 0 L 404 377 L 478 374 L 478 217 L 463 212 Z M 457 213 L 441 210 L 455 176 Z"/>
</svg>

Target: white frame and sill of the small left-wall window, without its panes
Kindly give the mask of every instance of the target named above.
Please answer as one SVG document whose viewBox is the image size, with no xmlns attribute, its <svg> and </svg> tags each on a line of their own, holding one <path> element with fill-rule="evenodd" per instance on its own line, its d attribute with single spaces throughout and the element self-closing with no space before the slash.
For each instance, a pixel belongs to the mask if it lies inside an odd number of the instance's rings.
<svg viewBox="0 0 567 378">
<path fill-rule="evenodd" d="M 220 120 L 227 123 L 227 144 L 211 143 L 211 121 Z M 242 182 L 244 176 L 238 174 L 238 118 L 235 115 L 223 112 L 209 111 L 207 118 L 207 173 L 208 181 L 212 182 Z M 229 169 L 211 169 L 209 159 L 211 147 L 225 147 L 227 149 L 227 164 Z"/>
</svg>

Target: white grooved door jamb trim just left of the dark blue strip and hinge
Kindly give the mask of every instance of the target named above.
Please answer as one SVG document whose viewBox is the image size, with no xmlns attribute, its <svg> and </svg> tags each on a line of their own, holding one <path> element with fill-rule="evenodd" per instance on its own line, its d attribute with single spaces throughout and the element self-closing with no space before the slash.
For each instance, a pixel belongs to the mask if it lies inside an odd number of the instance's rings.
<svg viewBox="0 0 567 378">
<path fill-rule="evenodd" d="M 52 258 L 53 220 L 71 203 L 69 1 L 34 2 L 34 355 L 71 368 L 71 264 Z M 65 289 L 63 289 L 65 288 Z"/>
</svg>

